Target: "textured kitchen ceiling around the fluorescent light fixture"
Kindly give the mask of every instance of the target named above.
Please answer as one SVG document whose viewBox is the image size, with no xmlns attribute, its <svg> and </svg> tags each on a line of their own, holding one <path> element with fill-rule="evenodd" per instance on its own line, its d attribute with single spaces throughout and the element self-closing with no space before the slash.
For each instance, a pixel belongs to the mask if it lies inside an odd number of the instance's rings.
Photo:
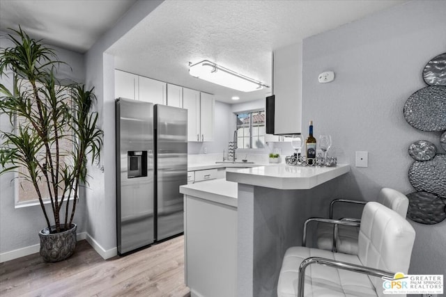
<svg viewBox="0 0 446 297">
<path fill-rule="evenodd" d="M 164 1 L 107 52 L 116 68 L 234 103 L 270 89 L 238 92 L 194 79 L 188 62 L 208 59 L 271 86 L 274 49 L 405 1 Z M 360 33 L 360 32 L 358 32 Z M 328 51 L 330 49 L 327 49 Z"/>
</svg>

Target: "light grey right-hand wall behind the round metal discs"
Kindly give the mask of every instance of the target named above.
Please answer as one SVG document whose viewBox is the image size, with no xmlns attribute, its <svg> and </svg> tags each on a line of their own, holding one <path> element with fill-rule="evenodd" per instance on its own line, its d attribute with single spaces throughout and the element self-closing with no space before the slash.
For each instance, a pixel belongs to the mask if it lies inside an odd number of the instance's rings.
<svg viewBox="0 0 446 297">
<path fill-rule="evenodd" d="M 381 187 L 413 192 L 410 143 L 427 140 L 443 151 L 440 133 L 408 125 L 403 106 L 426 86 L 424 65 L 445 52 L 445 15 L 446 1 L 409 1 L 304 40 L 302 127 L 314 120 L 316 137 L 330 133 L 339 161 L 352 164 L 342 195 L 376 200 Z M 336 79 L 318 83 L 327 70 Z M 360 150 L 369 152 L 368 168 L 354 167 Z M 445 273 L 446 221 L 411 223 L 417 237 L 409 272 Z"/>
</svg>

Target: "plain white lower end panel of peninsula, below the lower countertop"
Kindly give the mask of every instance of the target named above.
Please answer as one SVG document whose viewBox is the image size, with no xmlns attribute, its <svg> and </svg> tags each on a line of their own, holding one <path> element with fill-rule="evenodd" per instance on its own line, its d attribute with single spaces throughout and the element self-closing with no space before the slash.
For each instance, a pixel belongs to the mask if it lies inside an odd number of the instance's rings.
<svg viewBox="0 0 446 297">
<path fill-rule="evenodd" d="M 237 208 L 189 195 L 184 201 L 191 296 L 237 296 Z"/>
</svg>

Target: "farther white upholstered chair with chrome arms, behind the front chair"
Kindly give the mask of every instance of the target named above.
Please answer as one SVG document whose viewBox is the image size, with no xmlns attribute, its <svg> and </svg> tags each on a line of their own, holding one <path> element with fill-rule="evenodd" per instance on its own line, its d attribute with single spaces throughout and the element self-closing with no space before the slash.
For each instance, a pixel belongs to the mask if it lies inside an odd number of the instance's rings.
<svg viewBox="0 0 446 297">
<path fill-rule="evenodd" d="M 339 203 L 366 204 L 364 201 L 337 199 L 330 203 L 330 218 L 333 218 L 334 204 Z M 392 188 L 382 188 L 378 194 L 378 202 L 384 206 L 397 211 L 397 213 L 406 218 L 409 200 L 403 193 Z M 344 218 L 358 222 L 359 220 Z M 334 230 L 337 228 L 337 232 Z M 316 228 L 317 247 L 323 250 L 332 250 L 333 252 L 344 252 L 346 254 L 357 255 L 357 236 L 359 226 L 329 225 L 327 223 L 318 223 Z M 334 240 L 334 237 L 337 240 Z M 305 243 L 303 244 L 305 246 Z"/>
</svg>

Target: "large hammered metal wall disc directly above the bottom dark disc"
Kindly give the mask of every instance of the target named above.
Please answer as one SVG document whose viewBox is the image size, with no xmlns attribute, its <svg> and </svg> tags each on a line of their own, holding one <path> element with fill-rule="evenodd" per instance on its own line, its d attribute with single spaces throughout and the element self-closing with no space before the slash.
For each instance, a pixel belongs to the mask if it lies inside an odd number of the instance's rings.
<svg viewBox="0 0 446 297">
<path fill-rule="evenodd" d="M 446 198 L 446 154 L 437 154 L 429 161 L 414 161 L 408 176 L 410 184 L 417 191 Z"/>
</svg>

